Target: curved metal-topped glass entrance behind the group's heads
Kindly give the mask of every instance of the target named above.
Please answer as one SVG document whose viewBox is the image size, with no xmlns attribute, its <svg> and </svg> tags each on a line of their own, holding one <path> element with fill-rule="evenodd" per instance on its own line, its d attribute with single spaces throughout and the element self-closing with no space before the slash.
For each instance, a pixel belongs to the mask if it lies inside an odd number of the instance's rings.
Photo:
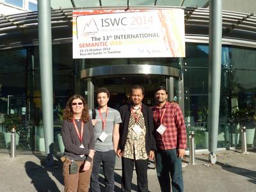
<svg viewBox="0 0 256 192">
<path fill-rule="evenodd" d="M 179 69 L 160 65 L 112 65 L 82 70 L 81 78 L 85 81 L 84 95 L 88 108 L 97 107 L 95 90 L 108 88 L 109 107 L 119 109 L 129 102 L 131 87 L 140 84 L 145 88 L 143 103 L 154 106 L 156 86 L 166 86 L 168 100 L 177 100 L 184 106 L 183 81 Z M 183 108 L 183 107 L 182 107 Z"/>
</svg>

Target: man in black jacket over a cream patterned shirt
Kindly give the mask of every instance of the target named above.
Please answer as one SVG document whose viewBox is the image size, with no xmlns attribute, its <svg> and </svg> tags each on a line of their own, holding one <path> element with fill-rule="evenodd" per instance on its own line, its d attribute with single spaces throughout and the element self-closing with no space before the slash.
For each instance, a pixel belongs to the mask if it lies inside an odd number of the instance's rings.
<svg viewBox="0 0 256 192">
<path fill-rule="evenodd" d="M 143 97 L 144 88 L 134 85 L 131 89 L 131 103 L 120 108 L 122 124 L 117 155 L 122 156 L 122 191 L 131 191 L 135 164 L 138 191 L 148 192 L 148 159 L 154 158 L 156 141 L 152 111 L 142 103 Z"/>
</svg>

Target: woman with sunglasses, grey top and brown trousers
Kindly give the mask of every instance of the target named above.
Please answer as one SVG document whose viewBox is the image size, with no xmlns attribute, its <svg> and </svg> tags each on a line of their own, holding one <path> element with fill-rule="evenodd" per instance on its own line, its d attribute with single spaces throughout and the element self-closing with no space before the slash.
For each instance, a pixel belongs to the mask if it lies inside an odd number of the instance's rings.
<svg viewBox="0 0 256 192">
<path fill-rule="evenodd" d="M 68 99 L 63 111 L 61 134 L 65 146 L 64 191 L 89 191 L 95 140 L 87 104 L 81 95 Z"/>
</svg>

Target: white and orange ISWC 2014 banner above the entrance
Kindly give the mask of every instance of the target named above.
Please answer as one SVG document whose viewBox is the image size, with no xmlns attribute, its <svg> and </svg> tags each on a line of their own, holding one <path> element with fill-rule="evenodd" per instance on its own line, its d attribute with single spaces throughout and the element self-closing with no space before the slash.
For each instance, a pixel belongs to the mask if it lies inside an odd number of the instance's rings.
<svg viewBox="0 0 256 192">
<path fill-rule="evenodd" d="M 184 10 L 73 12 L 73 58 L 184 56 Z"/>
</svg>

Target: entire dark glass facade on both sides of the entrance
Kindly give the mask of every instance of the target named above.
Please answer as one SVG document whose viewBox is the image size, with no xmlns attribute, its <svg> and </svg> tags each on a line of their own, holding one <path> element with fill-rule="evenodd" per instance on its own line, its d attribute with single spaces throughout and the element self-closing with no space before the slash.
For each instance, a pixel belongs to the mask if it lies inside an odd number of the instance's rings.
<svg viewBox="0 0 256 192">
<path fill-rule="evenodd" d="M 61 110 L 65 108 L 70 95 L 77 92 L 84 95 L 86 90 L 84 80 L 80 79 L 81 69 L 129 64 L 164 65 L 182 70 L 186 125 L 188 131 L 196 132 L 196 149 L 207 148 L 208 58 L 208 45 L 198 43 L 186 44 L 186 58 L 183 58 L 182 65 L 179 65 L 177 58 L 73 60 L 72 44 L 52 45 L 55 152 L 60 151 L 57 138 L 60 133 Z M 218 147 L 241 145 L 239 136 L 241 126 L 246 126 L 247 131 L 250 132 L 248 134 L 255 136 L 255 61 L 256 49 L 223 45 L 220 63 L 221 100 Z M 127 77 L 126 80 L 129 78 L 131 77 Z M 150 84 L 152 81 L 164 84 L 165 81 L 160 77 L 151 79 L 139 77 L 139 79 L 143 82 L 138 83 L 145 84 Z M 93 81 L 102 83 L 100 86 L 103 86 L 106 81 L 113 86 L 118 86 L 117 80 L 118 78 L 115 77 L 97 77 Z M 177 82 L 175 86 L 175 92 L 178 92 Z M 115 106 L 115 100 L 112 102 Z M 150 100 L 148 99 L 147 102 Z M 13 125 L 19 132 L 17 149 L 44 151 L 44 147 L 40 146 L 40 143 L 44 143 L 44 131 L 37 46 L 0 51 L 0 148 L 9 147 L 10 144 L 4 142 L 3 132 L 8 131 Z M 252 142 L 248 142 L 250 145 L 253 143 L 255 144 L 255 137 Z"/>
</svg>

